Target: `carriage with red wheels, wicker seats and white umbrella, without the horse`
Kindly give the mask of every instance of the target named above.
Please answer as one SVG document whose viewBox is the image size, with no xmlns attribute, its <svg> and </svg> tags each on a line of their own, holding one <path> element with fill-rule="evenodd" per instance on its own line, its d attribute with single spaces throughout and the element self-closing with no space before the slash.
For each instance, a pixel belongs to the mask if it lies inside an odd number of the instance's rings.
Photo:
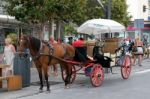
<svg viewBox="0 0 150 99">
<path fill-rule="evenodd" d="M 108 22 L 106 22 L 108 23 Z M 95 24 L 95 23 L 94 23 Z M 87 29 L 90 29 L 90 27 L 85 28 L 87 23 L 84 23 L 81 25 L 81 28 L 79 27 L 78 32 L 81 33 L 92 33 L 94 29 L 99 30 L 98 27 L 95 27 L 92 31 Z M 91 22 L 90 22 L 91 25 Z M 93 24 L 92 24 L 93 25 Z M 115 23 L 116 25 L 116 23 Z M 86 31 L 83 32 L 83 27 Z M 100 27 L 101 28 L 101 27 Z M 112 28 L 113 32 L 120 32 L 123 31 L 121 26 L 118 29 L 113 28 L 113 26 L 110 26 Z M 108 30 L 106 27 L 103 27 L 102 30 L 105 32 Z M 90 32 L 89 32 L 90 31 Z M 103 39 L 104 40 L 104 39 Z M 83 64 L 82 62 L 78 61 L 67 61 L 68 64 L 72 65 L 72 76 L 71 76 L 71 82 L 73 82 L 76 78 L 76 74 L 79 70 L 83 70 L 84 74 L 86 76 L 90 77 L 91 84 L 94 87 L 98 87 L 103 83 L 104 80 L 104 68 L 109 68 L 112 71 L 113 67 L 120 67 L 121 68 L 121 75 L 123 79 L 128 79 L 131 73 L 131 56 L 129 54 L 129 47 L 132 47 L 132 44 L 126 45 L 122 44 L 120 45 L 119 42 L 121 41 L 120 38 L 110 38 L 110 39 L 105 39 L 105 42 L 102 39 L 96 41 L 96 42 L 88 42 L 86 44 L 87 49 L 90 49 L 89 53 L 93 53 L 95 55 L 91 55 L 93 59 L 87 59 L 87 63 Z M 103 46 L 104 45 L 104 46 Z M 91 50 L 92 49 L 92 50 Z M 78 50 L 78 48 L 77 48 Z M 110 52 L 111 55 L 114 55 L 114 57 L 110 57 L 108 55 L 105 55 L 104 53 Z M 81 52 L 82 53 L 82 52 Z M 112 59 L 113 58 L 113 59 Z M 114 64 L 111 64 L 113 61 Z M 112 65 L 112 66 L 111 66 Z M 80 67 L 80 68 L 78 68 Z M 78 68 L 78 69 L 76 69 Z M 65 70 L 62 69 L 62 78 L 63 80 L 66 77 Z"/>
</svg>

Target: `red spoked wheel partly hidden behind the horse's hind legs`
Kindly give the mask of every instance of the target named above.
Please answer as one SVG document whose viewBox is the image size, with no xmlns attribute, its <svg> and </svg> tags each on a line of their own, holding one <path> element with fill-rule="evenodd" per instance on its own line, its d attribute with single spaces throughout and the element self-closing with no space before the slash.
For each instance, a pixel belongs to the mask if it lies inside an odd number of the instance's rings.
<svg viewBox="0 0 150 99">
<path fill-rule="evenodd" d="M 61 73 L 62 73 L 62 75 L 61 75 L 62 79 L 63 79 L 63 81 L 65 81 L 65 79 L 66 79 L 66 70 L 62 68 Z M 75 79 L 76 79 L 76 68 L 73 65 L 72 66 L 72 75 L 71 75 L 70 83 L 73 83 Z"/>
</svg>

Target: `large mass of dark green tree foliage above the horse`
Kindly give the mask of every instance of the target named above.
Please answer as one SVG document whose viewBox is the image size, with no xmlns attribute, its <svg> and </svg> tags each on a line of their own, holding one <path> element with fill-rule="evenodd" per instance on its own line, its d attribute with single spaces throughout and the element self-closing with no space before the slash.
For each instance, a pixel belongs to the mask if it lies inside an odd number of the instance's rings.
<svg viewBox="0 0 150 99">
<path fill-rule="evenodd" d="M 48 20 L 77 21 L 86 0 L 5 0 L 7 12 L 19 21 L 44 23 Z M 81 12 L 81 13 L 80 13 Z"/>
</svg>

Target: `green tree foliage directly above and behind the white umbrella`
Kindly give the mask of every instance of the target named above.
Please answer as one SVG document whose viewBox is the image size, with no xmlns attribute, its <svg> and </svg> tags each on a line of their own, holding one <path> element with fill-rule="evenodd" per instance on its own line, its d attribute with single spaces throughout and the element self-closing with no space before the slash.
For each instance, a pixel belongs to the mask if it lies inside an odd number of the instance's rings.
<svg viewBox="0 0 150 99">
<path fill-rule="evenodd" d="M 101 1 L 104 7 L 108 5 L 109 0 Z M 74 18 L 78 25 L 89 19 L 105 18 L 105 12 L 97 0 L 87 0 L 86 5 L 82 6 L 82 8 L 83 9 L 80 12 L 80 16 L 77 16 L 78 14 L 75 16 L 77 20 Z M 112 0 L 111 19 L 127 26 L 130 22 L 130 18 L 131 16 L 129 16 L 127 12 L 126 0 Z"/>
</svg>

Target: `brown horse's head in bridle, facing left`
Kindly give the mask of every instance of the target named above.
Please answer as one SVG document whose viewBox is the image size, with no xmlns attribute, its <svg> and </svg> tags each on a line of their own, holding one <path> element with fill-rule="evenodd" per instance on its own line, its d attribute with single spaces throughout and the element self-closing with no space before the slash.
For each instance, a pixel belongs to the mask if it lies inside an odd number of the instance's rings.
<svg viewBox="0 0 150 99">
<path fill-rule="evenodd" d="M 28 45 L 29 40 L 28 39 L 29 39 L 29 37 L 27 35 L 21 35 L 21 37 L 19 39 L 19 46 L 18 46 L 19 54 L 23 54 L 25 49 L 27 49 L 29 47 L 29 45 Z"/>
</svg>

